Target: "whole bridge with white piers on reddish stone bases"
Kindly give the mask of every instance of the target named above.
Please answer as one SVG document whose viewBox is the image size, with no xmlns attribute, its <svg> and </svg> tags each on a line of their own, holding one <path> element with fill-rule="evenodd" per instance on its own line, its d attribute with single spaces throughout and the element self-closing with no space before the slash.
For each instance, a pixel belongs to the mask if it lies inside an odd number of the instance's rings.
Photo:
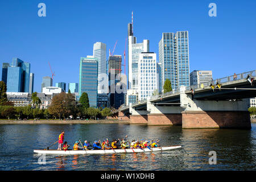
<svg viewBox="0 0 256 182">
<path fill-rule="evenodd" d="M 256 71 L 148 97 L 119 108 L 131 124 L 182 125 L 184 129 L 251 128 L 246 98 L 256 97 Z"/>
</svg>

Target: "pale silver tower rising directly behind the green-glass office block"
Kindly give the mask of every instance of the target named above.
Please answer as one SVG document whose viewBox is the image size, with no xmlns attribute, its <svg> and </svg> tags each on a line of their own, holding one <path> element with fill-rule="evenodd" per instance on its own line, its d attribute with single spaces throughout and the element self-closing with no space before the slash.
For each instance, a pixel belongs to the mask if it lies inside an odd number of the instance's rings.
<svg viewBox="0 0 256 182">
<path fill-rule="evenodd" d="M 93 44 L 93 57 L 98 60 L 98 93 L 107 93 L 108 78 L 106 77 L 106 44 Z"/>
</svg>

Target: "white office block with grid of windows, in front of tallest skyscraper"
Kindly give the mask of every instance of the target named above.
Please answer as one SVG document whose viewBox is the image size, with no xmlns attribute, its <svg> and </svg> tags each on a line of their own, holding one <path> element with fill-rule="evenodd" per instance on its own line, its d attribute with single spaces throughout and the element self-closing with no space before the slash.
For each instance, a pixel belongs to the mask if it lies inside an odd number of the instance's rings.
<svg viewBox="0 0 256 182">
<path fill-rule="evenodd" d="M 151 97 L 155 90 L 158 90 L 156 53 L 142 52 L 139 54 L 139 100 Z"/>
</svg>

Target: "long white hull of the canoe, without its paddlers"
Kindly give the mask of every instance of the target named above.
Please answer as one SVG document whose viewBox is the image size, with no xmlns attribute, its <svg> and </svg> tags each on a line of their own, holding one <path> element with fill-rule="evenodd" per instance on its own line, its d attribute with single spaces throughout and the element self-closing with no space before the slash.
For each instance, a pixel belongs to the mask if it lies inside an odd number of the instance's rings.
<svg viewBox="0 0 256 182">
<path fill-rule="evenodd" d="M 152 151 L 166 151 L 181 148 L 181 146 L 166 146 L 162 148 L 152 148 Z M 76 155 L 76 154 L 114 154 L 114 153 L 133 153 L 133 152 L 151 152 L 148 148 L 126 148 L 111 150 L 34 150 L 38 154 L 60 154 L 60 155 Z"/>
</svg>

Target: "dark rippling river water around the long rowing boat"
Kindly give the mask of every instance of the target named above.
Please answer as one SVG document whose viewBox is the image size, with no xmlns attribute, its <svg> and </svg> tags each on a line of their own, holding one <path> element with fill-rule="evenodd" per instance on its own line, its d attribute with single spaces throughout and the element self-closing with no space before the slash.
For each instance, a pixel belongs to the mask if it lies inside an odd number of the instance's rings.
<svg viewBox="0 0 256 182">
<path fill-rule="evenodd" d="M 181 129 L 181 126 L 125 124 L 0 125 L 0 170 L 255 170 L 256 124 L 250 130 Z M 160 144 L 181 145 L 173 151 L 103 155 L 46 155 L 40 163 L 34 149 L 56 142 L 60 131 L 71 146 L 106 137 L 160 139 Z M 57 148 L 55 144 L 51 148 Z M 217 164 L 209 164 L 209 152 Z"/>
</svg>

